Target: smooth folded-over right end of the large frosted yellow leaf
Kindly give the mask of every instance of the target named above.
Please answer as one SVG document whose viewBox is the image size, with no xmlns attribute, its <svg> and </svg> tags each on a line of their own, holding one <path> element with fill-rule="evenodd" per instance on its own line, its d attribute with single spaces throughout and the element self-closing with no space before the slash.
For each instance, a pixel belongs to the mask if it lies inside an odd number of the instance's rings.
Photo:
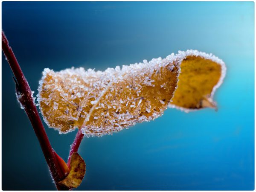
<svg viewBox="0 0 256 192">
<path fill-rule="evenodd" d="M 184 111 L 216 108 L 212 98 L 224 79 L 224 62 L 210 55 L 188 55 L 181 62 L 180 68 L 177 89 L 169 106 Z"/>
</svg>

